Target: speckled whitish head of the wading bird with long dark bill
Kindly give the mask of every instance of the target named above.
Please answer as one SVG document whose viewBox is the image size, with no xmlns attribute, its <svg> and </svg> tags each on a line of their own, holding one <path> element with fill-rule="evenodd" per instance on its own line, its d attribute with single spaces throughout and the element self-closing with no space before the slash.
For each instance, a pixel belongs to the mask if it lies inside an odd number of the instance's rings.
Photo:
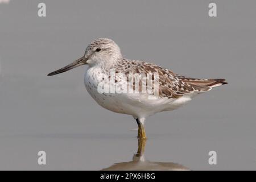
<svg viewBox="0 0 256 182">
<path fill-rule="evenodd" d="M 88 64 L 90 67 L 93 65 L 111 67 L 115 61 L 120 59 L 122 59 L 122 54 L 117 44 L 111 39 L 99 38 L 88 45 L 84 56 L 63 68 L 58 69 L 55 72 L 49 73 L 47 76 L 53 76 L 59 73 L 67 72 L 70 69 L 79 67 L 84 64 Z"/>
</svg>

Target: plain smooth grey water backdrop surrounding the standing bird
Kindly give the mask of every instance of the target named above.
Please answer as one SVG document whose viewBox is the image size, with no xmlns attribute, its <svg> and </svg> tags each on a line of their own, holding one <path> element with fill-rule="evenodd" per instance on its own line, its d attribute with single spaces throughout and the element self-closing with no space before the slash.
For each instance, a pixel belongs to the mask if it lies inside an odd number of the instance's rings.
<svg viewBox="0 0 256 182">
<path fill-rule="evenodd" d="M 45 2 L 47 17 L 37 15 Z M 217 3 L 216 18 L 208 5 Z M 16 1 L 0 4 L 0 169 L 93 169 L 128 162 L 135 121 L 102 109 L 84 67 L 47 73 L 111 38 L 129 59 L 228 85 L 146 121 L 145 157 L 197 169 L 256 169 L 256 1 Z M 47 165 L 37 153 L 47 152 Z M 217 152 L 217 165 L 208 152 Z"/>
</svg>

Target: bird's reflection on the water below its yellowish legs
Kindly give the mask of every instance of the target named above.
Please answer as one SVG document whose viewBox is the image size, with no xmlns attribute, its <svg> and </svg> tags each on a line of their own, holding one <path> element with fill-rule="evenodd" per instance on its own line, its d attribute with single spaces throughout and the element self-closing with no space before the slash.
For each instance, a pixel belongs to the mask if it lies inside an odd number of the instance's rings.
<svg viewBox="0 0 256 182">
<path fill-rule="evenodd" d="M 177 163 L 164 163 L 164 162 L 150 162 L 144 158 L 144 149 L 146 140 L 138 140 L 138 151 L 134 154 L 133 160 L 130 162 L 123 162 L 113 164 L 108 168 L 102 169 L 103 171 L 118 171 L 118 170 L 170 170 L 170 171 L 187 171 L 189 168 Z"/>
</svg>

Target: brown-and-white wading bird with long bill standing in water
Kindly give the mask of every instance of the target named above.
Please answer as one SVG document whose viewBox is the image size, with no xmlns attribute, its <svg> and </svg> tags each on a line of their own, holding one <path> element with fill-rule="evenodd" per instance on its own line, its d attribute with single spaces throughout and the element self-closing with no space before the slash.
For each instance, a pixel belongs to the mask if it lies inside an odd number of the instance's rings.
<svg viewBox="0 0 256 182">
<path fill-rule="evenodd" d="M 144 121 L 148 116 L 162 111 L 178 109 L 196 95 L 207 92 L 213 87 L 227 84 L 222 78 L 185 77 L 156 64 L 125 59 L 118 45 L 107 38 L 94 40 L 86 48 L 84 56 L 55 72 L 49 73 L 48 76 L 63 73 L 85 64 L 88 66 L 85 69 L 84 84 L 90 96 L 105 109 L 115 113 L 132 115 L 137 121 L 139 139 L 146 139 Z M 113 71 L 116 74 L 114 78 Z M 144 82 L 142 84 L 142 80 L 140 80 L 139 92 L 113 92 L 113 86 L 119 91 L 120 89 L 124 91 L 127 88 L 135 91 L 137 87 L 134 82 L 130 84 L 130 80 L 133 80 L 133 78 L 130 79 L 130 75 L 151 75 L 154 84 L 147 81 L 146 84 Z M 146 77 L 148 78 L 148 76 Z M 99 92 L 99 89 L 102 88 L 102 82 L 105 85 L 109 84 L 110 92 Z M 122 87 L 123 83 L 128 83 L 127 88 Z M 151 92 L 142 93 L 143 86 L 151 87 Z M 106 90 L 109 91 L 109 88 Z M 152 90 L 156 90 L 156 92 L 152 92 Z"/>
</svg>

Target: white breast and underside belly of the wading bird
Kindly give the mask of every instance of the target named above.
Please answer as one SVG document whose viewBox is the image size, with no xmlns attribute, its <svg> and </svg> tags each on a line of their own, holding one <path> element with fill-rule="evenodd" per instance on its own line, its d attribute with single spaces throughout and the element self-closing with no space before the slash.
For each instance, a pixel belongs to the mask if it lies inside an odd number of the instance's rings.
<svg viewBox="0 0 256 182">
<path fill-rule="evenodd" d="M 108 78 L 100 68 L 87 68 L 84 77 L 85 88 L 92 98 L 105 109 L 115 113 L 133 115 L 134 118 L 148 117 L 160 111 L 174 110 L 191 100 L 190 96 L 183 96 L 176 100 L 157 97 L 148 100 L 147 94 L 131 93 L 99 93 L 98 84 L 102 78 Z"/>
</svg>

